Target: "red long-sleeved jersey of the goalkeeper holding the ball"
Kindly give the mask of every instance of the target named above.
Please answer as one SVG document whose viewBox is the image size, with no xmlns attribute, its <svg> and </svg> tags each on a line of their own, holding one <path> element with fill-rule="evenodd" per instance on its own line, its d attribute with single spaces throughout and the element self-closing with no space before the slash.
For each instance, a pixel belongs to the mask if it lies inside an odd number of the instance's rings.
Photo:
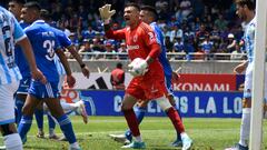
<svg viewBox="0 0 267 150">
<path fill-rule="evenodd" d="M 157 47 L 160 50 L 160 46 L 157 43 L 157 39 L 154 30 L 149 24 L 140 22 L 135 29 L 126 27 L 120 30 L 109 30 L 106 32 L 109 39 L 126 39 L 127 50 L 129 59 L 132 61 L 135 58 L 146 59 L 152 48 Z M 158 51 L 158 54 L 160 51 Z M 149 72 L 164 73 L 162 67 L 158 60 L 158 56 L 151 64 L 149 64 Z"/>
</svg>

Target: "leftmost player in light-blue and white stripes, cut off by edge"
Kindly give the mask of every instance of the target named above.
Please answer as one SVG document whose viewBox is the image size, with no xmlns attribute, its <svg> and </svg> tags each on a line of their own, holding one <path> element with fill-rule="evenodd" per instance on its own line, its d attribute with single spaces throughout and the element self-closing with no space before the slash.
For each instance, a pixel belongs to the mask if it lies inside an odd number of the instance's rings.
<svg viewBox="0 0 267 150">
<path fill-rule="evenodd" d="M 7 149 L 22 150 L 22 142 L 14 126 L 13 93 L 18 89 L 21 74 L 14 62 L 14 43 L 22 47 L 30 63 L 31 77 L 46 82 L 46 77 L 37 69 L 31 44 L 14 17 L 0 7 L 0 130 Z"/>
</svg>

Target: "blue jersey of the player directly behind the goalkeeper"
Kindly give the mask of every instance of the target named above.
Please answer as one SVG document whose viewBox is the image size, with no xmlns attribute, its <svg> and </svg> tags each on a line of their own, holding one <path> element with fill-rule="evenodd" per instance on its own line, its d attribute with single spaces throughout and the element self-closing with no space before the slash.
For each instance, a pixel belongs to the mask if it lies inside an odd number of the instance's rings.
<svg viewBox="0 0 267 150">
<path fill-rule="evenodd" d="M 167 54 L 166 54 L 167 50 L 166 50 L 165 42 L 164 42 L 164 34 L 156 22 L 150 23 L 150 27 L 154 29 L 156 38 L 157 38 L 157 42 L 160 44 L 160 48 L 161 48 L 161 53 L 159 56 L 159 62 L 164 67 L 165 76 L 171 76 L 172 70 L 171 70 L 169 61 L 167 60 Z"/>
</svg>

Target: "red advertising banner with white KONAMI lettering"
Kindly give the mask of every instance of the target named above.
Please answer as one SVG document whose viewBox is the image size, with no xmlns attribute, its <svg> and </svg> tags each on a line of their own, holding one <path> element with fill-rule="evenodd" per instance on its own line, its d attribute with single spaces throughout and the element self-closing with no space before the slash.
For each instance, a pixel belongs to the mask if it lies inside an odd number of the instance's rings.
<svg viewBox="0 0 267 150">
<path fill-rule="evenodd" d="M 236 74 L 180 74 L 175 91 L 236 91 Z"/>
</svg>

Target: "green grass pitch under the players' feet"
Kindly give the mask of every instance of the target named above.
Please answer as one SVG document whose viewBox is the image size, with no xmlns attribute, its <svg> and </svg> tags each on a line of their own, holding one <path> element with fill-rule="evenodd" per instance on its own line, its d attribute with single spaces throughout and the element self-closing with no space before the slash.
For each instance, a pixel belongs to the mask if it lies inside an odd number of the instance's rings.
<svg viewBox="0 0 267 150">
<path fill-rule="evenodd" d="M 44 119 L 46 120 L 46 119 Z M 78 141 L 83 150 L 118 150 L 118 143 L 108 137 L 109 133 L 122 133 L 126 122 L 122 117 L 90 117 L 83 124 L 80 117 L 71 117 Z M 240 119 L 197 119 L 185 118 L 186 131 L 194 140 L 192 150 L 224 150 L 238 141 Z M 47 122 L 46 122 L 47 124 Z M 44 126 L 48 127 L 48 126 Z M 149 150 L 180 149 L 170 147 L 176 132 L 168 118 L 145 118 L 140 126 L 142 138 Z M 267 149 L 267 121 L 264 121 L 264 148 Z M 46 133 L 48 129 L 46 128 Z M 33 123 L 24 150 L 67 150 L 68 143 L 36 138 L 37 126 Z M 61 132 L 57 127 L 57 133 Z M 47 134 L 46 134 L 47 136 Z M 0 139 L 2 143 L 2 138 Z"/>
</svg>

